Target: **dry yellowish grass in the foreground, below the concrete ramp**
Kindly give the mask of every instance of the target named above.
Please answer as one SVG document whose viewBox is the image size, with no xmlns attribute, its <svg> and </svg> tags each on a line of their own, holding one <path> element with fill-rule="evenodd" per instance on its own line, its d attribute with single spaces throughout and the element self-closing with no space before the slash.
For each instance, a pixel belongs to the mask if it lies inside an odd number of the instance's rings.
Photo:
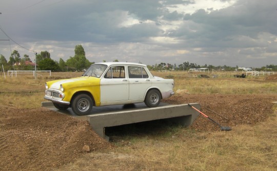
<svg viewBox="0 0 277 171">
<path fill-rule="evenodd" d="M 141 136 L 120 137 L 112 151 L 90 153 L 59 170 L 276 170 L 276 114 L 230 132 L 142 131 Z"/>
</svg>

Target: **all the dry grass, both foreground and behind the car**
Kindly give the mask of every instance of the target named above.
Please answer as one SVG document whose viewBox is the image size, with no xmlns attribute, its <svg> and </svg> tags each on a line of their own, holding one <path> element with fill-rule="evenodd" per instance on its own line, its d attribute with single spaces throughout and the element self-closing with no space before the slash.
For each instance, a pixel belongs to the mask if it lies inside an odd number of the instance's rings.
<svg viewBox="0 0 277 171">
<path fill-rule="evenodd" d="M 236 73 L 214 73 L 217 78 L 200 78 L 197 74 L 153 72 L 155 76 L 173 78 L 174 91 L 186 89 L 190 94 L 277 94 L 277 83 L 264 81 L 265 76 L 234 78 Z M 45 101 L 45 81 L 80 75 L 82 73 L 52 73 L 37 79 L 32 75 L 2 76 L 0 101 L 17 108 L 39 108 Z M 231 132 L 166 126 L 163 131 L 148 133 L 148 136 L 126 135 L 113 142 L 116 148 L 101 154 L 90 153 L 60 170 L 91 169 L 91 164 L 86 165 L 80 160 L 97 163 L 96 170 L 107 168 L 105 165 L 116 161 L 121 162 L 121 170 L 277 170 L 276 118 L 275 109 L 266 122 L 238 125 Z M 117 157 L 112 158 L 112 154 Z"/>
</svg>

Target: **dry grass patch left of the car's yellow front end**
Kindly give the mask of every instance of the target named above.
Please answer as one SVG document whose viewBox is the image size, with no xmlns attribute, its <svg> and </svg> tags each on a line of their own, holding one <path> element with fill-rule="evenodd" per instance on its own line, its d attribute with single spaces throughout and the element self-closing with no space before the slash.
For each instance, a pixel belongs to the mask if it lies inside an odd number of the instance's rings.
<svg viewBox="0 0 277 171">
<path fill-rule="evenodd" d="M 43 73 L 34 79 L 32 74 L 18 74 L 17 77 L 0 77 L 0 101 L 17 108 L 38 108 L 44 100 L 45 82 L 81 76 L 83 73 Z"/>
</svg>

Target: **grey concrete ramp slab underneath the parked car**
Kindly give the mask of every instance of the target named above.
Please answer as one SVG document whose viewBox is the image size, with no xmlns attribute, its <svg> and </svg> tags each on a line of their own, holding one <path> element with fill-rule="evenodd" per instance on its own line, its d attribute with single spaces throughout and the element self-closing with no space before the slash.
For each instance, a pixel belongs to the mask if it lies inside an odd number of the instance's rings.
<svg viewBox="0 0 277 171">
<path fill-rule="evenodd" d="M 199 112 L 193 110 L 187 104 L 180 105 L 169 105 L 162 104 L 156 108 L 147 108 L 144 104 L 135 104 L 134 106 L 138 106 L 137 108 L 132 108 L 130 110 L 124 110 L 122 105 L 118 107 L 118 105 L 113 106 L 102 106 L 95 107 L 98 108 L 99 112 L 96 112 L 87 116 L 77 116 L 75 115 L 71 109 L 60 111 L 54 108 L 51 105 L 52 102 L 43 102 L 42 106 L 49 108 L 51 110 L 57 111 L 59 113 L 71 115 L 73 117 L 79 119 L 86 119 L 89 121 L 92 130 L 95 131 L 100 137 L 109 141 L 109 137 L 105 135 L 105 127 L 118 126 L 130 123 L 151 121 L 151 120 L 159 120 L 159 119 L 169 119 L 173 123 L 181 124 L 184 126 L 191 125 L 194 120 L 199 115 Z M 196 109 L 201 108 L 199 103 L 190 103 Z M 99 110 L 101 109 L 101 110 Z M 114 109 L 114 110 L 113 110 Z M 121 110 L 120 110 L 121 109 Z M 100 112 L 103 111 L 103 112 Z"/>
</svg>

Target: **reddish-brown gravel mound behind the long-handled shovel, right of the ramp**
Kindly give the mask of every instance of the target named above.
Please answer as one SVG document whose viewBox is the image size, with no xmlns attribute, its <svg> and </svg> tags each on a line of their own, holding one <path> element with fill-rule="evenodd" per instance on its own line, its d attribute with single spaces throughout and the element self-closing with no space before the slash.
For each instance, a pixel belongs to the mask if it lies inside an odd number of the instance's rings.
<svg viewBox="0 0 277 171">
<path fill-rule="evenodd" d="M 202 112 L 219 122 L 222 126 L 236 126 L 240 124 L 255 124 L 263 122 L 272 113 L 273 101 L 277 95 L 174 95 L 165 102 L 172 104 L 200 103 Z M 225 119 L 220 114 L 228 119 Z M 202 131 L 216 131 L 220 127 L 204 117 L 197 117 L 192 129 Z"/>
</svg>

